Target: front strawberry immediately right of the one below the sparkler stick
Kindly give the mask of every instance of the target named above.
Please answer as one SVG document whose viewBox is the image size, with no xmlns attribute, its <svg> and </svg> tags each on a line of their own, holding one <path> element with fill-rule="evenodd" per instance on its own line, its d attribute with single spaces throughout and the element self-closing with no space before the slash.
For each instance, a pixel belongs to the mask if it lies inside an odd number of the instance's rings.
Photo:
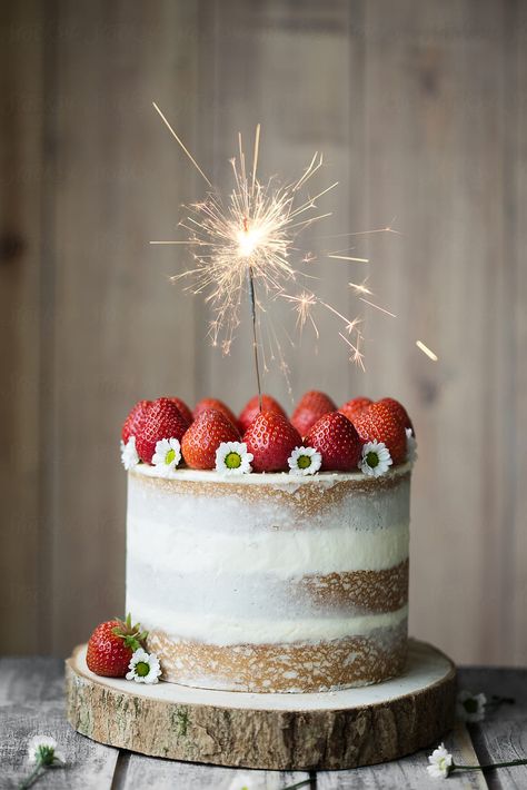
<svg viewBox="0 0 527 790">
<path fill-rule="evenodd" d="M 340 412 L 331 412 L 320 417 L 310 429 L 305 444 L 321 454 L 322 471 L 356 470 L 362 451 L 357 431 Z"/>
</svg>

